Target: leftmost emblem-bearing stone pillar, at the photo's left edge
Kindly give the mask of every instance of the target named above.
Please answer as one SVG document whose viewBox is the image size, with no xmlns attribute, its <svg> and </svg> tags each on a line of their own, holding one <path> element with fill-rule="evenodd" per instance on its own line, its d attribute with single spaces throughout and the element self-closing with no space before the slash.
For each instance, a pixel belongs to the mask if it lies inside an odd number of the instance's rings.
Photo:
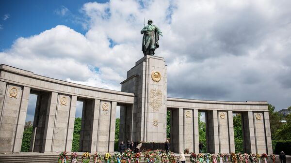
<svg viewBox="0 0 291 163">
<path fill-rule="evenodd" d="M 20 152 L 30 93 L 29 87 L 0 83 L 0 152 Z"/>
</svg>

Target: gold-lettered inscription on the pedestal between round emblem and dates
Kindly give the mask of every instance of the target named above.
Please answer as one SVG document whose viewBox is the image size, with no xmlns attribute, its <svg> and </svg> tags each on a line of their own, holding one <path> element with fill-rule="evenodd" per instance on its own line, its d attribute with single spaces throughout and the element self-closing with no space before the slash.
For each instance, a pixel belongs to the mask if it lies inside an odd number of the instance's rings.
<svg viewBox="0 0 291 163">
<path fill-rule="evenodd" d="M 154 111 L 159 111 L 162 107 L 162 91 L 159 89 L 150 89 L 149 91 L 149 106 Z"/>
</svg>

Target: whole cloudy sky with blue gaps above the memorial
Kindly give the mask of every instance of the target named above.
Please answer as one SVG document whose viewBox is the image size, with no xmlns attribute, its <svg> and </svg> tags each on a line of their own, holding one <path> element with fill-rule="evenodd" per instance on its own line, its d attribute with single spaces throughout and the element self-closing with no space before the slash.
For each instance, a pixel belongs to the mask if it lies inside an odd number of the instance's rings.
<svg viewBox="0 0 291 163">
<path fill-rule="evenodd" d="M 163 33 L 168 97 L 291 105 L 290 0 L 0 1 L 0 64 L 120 90 Z"/>
</svg>

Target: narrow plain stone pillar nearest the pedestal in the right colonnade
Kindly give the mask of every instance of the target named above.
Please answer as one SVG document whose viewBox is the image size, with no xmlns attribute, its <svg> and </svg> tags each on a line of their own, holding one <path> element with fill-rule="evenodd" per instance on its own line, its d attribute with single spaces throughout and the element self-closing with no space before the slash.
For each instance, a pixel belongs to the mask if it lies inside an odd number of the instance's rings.
<svg viewBox="0 0 291 163">
<path fill-rule="evenodd" d="M 172 150 L 179 153 L 184 150 L 184 114 L 183 108 L 172 110 L 172 126 L 173 134 L 171 137 Z"/>
</svg>

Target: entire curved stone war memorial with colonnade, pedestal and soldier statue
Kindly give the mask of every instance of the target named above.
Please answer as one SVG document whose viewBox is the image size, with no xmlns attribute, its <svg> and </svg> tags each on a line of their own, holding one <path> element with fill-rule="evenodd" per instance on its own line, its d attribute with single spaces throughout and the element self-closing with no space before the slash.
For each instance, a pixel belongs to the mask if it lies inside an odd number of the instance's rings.
<svg viewBox="0 0 291 163">
<path fill-rule="evenodd" d="M 21 149 L 30 93 L 37 94 L 30 151 L 70 152 L 77 101 L 83 102 L 80 150 L 113 152 L 116 106 L 120 106 L 119 141 L 166 141 L 166 112 L 171 111 L 170 150 L 199 153 L 198 112 L 206 113 L 210 153 L 235 152 L 233 113 L 242 115 L 243 148 L 271 154 L 267 101 L 209 101 L 167 97 L 167 66 L 155 54 L 158 27 L 152 21 L 141 31 L 144 57 L 121 81 L 121 91 L 100 89 L 0 65 L 0 153 Z M 159 145 L 160 144 L 160 145 Z"/>
</svg>

